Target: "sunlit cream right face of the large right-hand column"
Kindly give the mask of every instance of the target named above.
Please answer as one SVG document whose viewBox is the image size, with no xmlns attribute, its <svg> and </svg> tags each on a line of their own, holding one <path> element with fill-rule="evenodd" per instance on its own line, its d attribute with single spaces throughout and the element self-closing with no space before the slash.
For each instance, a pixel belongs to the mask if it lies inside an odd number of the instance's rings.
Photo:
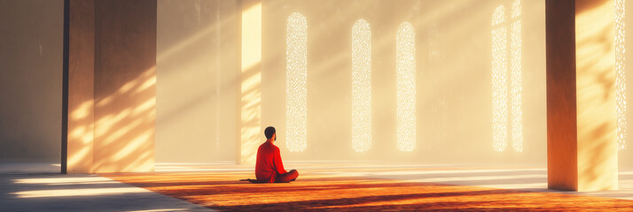
<svg viewBox="0 0 633 212">
<path fill-rule="evenodd" d="M 614 9 L 610 2 L 576 2 L 575 17 L 578 184 L 607 186 L 589 188 L 598 190 L 617 187 Z"/>
</svg>

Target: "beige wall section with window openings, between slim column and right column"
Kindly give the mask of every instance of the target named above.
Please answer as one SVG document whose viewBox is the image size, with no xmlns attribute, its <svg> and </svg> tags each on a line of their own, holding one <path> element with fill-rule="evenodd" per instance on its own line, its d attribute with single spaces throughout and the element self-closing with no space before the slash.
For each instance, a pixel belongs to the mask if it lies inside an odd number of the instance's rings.
<svg viewBox="0 0 633 212">
<path fill-rule="evenodd" d="M 545 163 L 544 2 L 523 1 L 522 153 L 492 146 L 491 19 L 512 1 L 264 1 L 262 126 L 277 127 L 285 160 L 397 160 L 423 163 Z M 285 27 L 308 20 L 308 147 L 285 148 Z M 509 16 L 508 16 L 509 17 Z M 351 28 L 371 26 L 372 144 L 351 145 Z M 396 148 L 395 32 L 415 28 L 417 148 Z M 508 44 L 508 49 L 510 45 Z M 510 58 L 507 58 L 508 60 Z"/>
</svg>

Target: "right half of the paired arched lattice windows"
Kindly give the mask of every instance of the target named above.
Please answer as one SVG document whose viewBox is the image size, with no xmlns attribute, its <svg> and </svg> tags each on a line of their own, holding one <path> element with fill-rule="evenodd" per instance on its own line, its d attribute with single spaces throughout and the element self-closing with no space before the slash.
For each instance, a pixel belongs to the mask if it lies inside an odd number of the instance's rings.
<svg viewBox="0 0 633 212">
<path fill-rule="evenodd" d="M 512 4 L 512 148 L 517 152 L 523 151 L 523 111 L 521 105 L 523 103 L 522 98 L 522 65 L 521 65 L 521 2 L 515 0 Z"/>
</svg>

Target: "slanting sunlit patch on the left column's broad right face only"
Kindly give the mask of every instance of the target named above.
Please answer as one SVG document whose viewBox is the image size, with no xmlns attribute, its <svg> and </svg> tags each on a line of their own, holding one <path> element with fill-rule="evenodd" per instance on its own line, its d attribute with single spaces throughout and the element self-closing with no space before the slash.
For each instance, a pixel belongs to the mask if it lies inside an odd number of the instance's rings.
<svg viewBox="0 0 633 212">
<path fill-rule="evenodd" d="M 156 68 L 152 67 L 115 93 L 97 98 L 97 114 L 117 110 L 95 116 L 96 171 L 153 170 L 155 87 Z"/>
</svg>

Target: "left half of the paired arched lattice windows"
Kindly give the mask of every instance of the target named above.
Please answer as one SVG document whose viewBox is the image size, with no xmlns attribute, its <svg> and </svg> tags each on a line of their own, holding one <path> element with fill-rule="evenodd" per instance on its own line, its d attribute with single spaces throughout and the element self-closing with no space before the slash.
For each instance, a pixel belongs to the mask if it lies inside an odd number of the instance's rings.
<svg viewBox="0 0 633 212">
<path fill-rule="evenodd" d="M 502 152 L 507 146 L 508 102 L 505 8 L 499 6 L 492 15 L 492 131 L 493 148 Z"/>
</svg>

